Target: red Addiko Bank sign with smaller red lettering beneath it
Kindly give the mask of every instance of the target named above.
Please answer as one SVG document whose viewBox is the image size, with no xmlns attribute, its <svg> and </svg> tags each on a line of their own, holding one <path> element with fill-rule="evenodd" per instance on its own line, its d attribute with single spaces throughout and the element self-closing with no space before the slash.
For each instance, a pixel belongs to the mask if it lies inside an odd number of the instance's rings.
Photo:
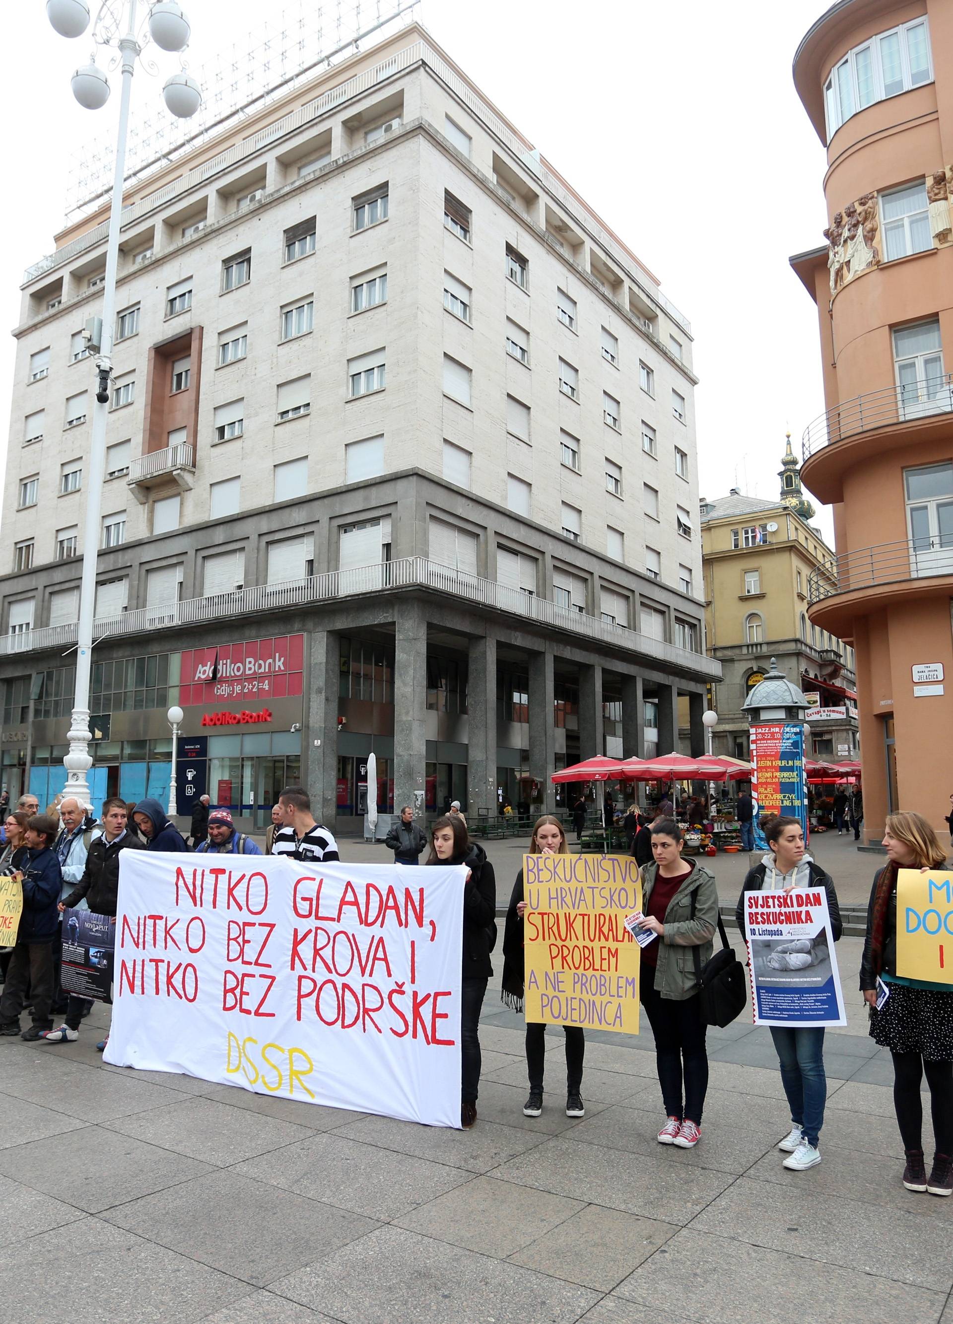
<svg viewBox="0 0 953 1324">
<path fill-rule="evenodd" d="M 304 636 L 281 634 L 246 643 L 220 643 L 185 649 L 181 654 L 180 699 L 183 706 L 216 700 L 287 699 L 302 694 Z M 209 716 L 217 718 L 218 714 Z M 229 718 L 240 718 L 229 714 Z M 270 720 L 258 718 L 257 720 Z M 220 726 L 203 720 L 203 726 Z M 229 723 L 234 724 L 234 723 Z"/>
</svg>

